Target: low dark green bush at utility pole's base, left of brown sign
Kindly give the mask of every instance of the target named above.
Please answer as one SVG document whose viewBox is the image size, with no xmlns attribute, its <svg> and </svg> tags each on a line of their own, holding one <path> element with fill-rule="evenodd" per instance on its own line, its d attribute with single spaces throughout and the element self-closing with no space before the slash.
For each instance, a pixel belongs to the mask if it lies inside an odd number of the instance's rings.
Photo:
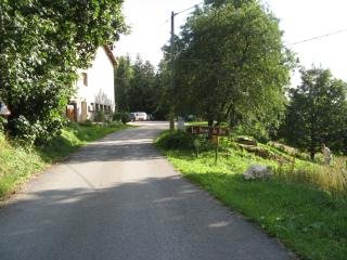
<svg viewBox="0 0 347 260">
<path fill-rule="evenodd" d="M 157 145 L 165 150 L 194 150 L 194 136 L 188 132 L 166 132 L 157 140 Z"/>
</svg>

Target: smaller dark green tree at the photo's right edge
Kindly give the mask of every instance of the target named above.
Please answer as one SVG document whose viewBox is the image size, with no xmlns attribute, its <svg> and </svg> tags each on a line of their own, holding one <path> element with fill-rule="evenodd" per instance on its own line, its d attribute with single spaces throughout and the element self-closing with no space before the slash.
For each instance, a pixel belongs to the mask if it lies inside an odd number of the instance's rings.
<svg viewBox="0 0 347 260">
<path fill-rule="evenodd" d="M 347 131 L 347 83 L 333 78 L 329 69 L 301 69 L 303 83 L 290 92 L 284 136 L 305 148 L 311 158 L 322 143 L 345 151 Z"/>
</svg>

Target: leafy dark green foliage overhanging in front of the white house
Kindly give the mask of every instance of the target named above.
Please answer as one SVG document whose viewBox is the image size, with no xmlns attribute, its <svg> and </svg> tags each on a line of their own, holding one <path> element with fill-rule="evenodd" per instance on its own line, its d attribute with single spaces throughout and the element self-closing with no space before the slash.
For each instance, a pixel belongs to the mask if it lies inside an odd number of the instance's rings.
<svg viewBox="0 0 347 260">
<path fill-rule="evenodd" d="M 12 135 L 25 134 L 24 122 L 42 132 L 36 141 L 59 134 L 76 69 L 88 67 L 100 46 L 112 44 L 127 30 L 121 3 L 0 2 L 0 99 L 12 112 Z"/>
</svg>

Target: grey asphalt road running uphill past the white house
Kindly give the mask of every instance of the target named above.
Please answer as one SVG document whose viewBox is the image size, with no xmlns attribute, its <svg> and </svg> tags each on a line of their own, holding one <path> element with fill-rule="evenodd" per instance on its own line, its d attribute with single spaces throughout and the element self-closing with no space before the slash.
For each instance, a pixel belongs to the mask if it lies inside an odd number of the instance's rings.
<svg viewBox="0 0 347 260">
<path fill-rule="evenodd" d="M 1 260 L 291 259 L 152 145 L 144 123 L 85 146 L 0 208 Z"/>
</svg>

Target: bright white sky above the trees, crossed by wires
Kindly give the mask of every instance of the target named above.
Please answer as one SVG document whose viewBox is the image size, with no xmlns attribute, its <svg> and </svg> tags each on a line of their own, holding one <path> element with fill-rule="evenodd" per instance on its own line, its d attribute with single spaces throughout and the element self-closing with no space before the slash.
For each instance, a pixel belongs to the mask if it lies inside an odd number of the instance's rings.
<svg viewBox="0 0 347 260">
<path fill-rule="evenodd" d="M 203 0 L 125 0 L 124 14 L 131 32 L 123 36 L 116 43 L 115 54 L 127 53 L 136 58 L 139 53 L 143 60 L 157 65 L 163 57 L 162 47 L 170 38 L 171 11 L 179 12 Z M 347 81 L 347 1 L 346 0 L 265 0 L 270 10 L 280 20 L 284 31 L 285 44 L 296 53 L 305 67 L 312 64 L 330 68 L 334 77 Z M 177 15 L 175 32 L 192 10 Z M 291 44 L 297 41 L 327 35 L 344 32 Z M 298 75 L 293 84 L 298 83 Z"/>
</svg>

